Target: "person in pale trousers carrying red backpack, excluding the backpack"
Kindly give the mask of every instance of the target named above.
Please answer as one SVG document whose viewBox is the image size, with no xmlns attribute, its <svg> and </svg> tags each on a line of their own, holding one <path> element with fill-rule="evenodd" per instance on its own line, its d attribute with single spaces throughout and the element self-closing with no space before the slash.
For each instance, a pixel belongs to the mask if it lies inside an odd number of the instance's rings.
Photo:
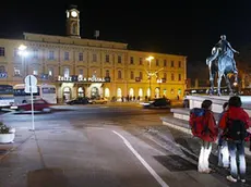
<svg viewBox="0 0 251 187">
<path fill-rule="evenodd" d="M 210 154 L 212 151 L 212 142 L 216 141 L 218 136 L 218 128 L 214 119 L 214 113 L 212 112 L 211 100 L 204 100 L 201 108 L 205 110 L 205 126 L 206 130 L 200 136 L 202 139 L 201 151 L 199 157 L 198 171 L 200 173 L 210 173 Z"/>
</svg>

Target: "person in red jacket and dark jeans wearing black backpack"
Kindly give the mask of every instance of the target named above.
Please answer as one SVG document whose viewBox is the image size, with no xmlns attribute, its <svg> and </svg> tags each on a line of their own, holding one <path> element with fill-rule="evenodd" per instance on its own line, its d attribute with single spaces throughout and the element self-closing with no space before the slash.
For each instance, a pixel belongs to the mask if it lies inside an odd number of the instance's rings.
<svg viewBox="0 0 251 187">
<path fill-rule="evenodd" d="M 227 176 L 227 179 L 234 183 L 237 182 L 238 177 L 242 183 L 246 182 L 244 141 L 249 140 L 247 129 L 250 127 L 250 122 L 249 115 L 241 108 L 241 104 L 240 97 L 231 97 L 228 101 L 229 109 L 219 121 L 219 128 L 224 132 L 230 154 L 230 175 Z M 235 130 L 232 130 L 234 128 Z M 237 159 L 239 160 L 239 169 L 237 167 Z M 240 172 L 239 175 L 238 171 Z"/>
</svg>

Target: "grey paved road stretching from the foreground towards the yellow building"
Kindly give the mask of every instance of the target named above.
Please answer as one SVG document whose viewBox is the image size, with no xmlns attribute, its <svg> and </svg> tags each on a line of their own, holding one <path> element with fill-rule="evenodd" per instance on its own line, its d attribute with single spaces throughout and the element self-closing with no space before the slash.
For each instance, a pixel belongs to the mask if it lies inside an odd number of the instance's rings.
<svg viewBox="0 0 251 187">
<path fill-rule="evenodd" d="M 0 157 L 0 186 L 228 186 L 224 176 L 199 174 L 170 132 L 166 146 L 144 136 L 142 129 L 162 126 L 159 116 L 167 114 L 135 107 L 79 108 L 36 114 L 35 133 L 27 130 L 29 114 L 4 114 L 17 132 L 14 149 Z"/>
</svg>

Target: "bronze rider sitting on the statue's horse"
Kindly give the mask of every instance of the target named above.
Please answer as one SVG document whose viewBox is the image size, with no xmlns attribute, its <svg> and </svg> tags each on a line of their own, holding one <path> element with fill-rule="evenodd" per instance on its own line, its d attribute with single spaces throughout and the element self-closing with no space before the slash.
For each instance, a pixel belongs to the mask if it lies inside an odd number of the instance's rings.
<svg viewBox="0 0 251 187">
<path fill-rule="evenodd" d="M 217 42 L 218 47 L 222 48 L 222 57 L 224 55 L 228 55 L 231 61 L 232 61 L 232 67 L 234 67 L 234 73 L 237 74 L 238 70 L 236 67 L 236 61 L 234 59 L 234 54 L 229 54 L 228 50 L 232 51 L 234 53 L 239 53 L 237 50 L 232 49 L 232 47 L 230 46 L 230 43 L 227 41 L 227 37 L 226 35 L 222 35 L 220 36 L 220 40 Z"/>
</svg>

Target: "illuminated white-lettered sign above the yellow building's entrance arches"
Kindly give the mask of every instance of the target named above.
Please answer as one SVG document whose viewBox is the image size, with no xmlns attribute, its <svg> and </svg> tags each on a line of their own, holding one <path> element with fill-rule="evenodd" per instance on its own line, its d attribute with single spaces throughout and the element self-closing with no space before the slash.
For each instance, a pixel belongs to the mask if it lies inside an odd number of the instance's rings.
<svg viewBox="0 0 251 187">
<path fill-rule="evenodd" d="M 79 83 L 109 83 L 110 77 L 82 77 L 77 75 L 72 76 L 58 76 L 58 82 L 79 82 Z"/>
</svg>

